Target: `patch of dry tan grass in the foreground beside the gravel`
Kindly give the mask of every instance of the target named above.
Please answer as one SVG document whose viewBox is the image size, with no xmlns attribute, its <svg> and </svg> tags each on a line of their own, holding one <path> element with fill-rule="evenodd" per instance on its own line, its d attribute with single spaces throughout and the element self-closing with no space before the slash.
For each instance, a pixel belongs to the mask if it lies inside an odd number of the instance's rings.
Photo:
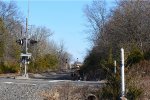
<svg viewBox="0 0 150 100">
<path fill-rule="evenodd" d="M 45 100 L 85 100 L 88 94 L 93 93 L 95 89 L 89 86 L 75 86 L 74 84 L 63 84 L 55 86 L 47 91 L 42 91 Z"/>
</svg>

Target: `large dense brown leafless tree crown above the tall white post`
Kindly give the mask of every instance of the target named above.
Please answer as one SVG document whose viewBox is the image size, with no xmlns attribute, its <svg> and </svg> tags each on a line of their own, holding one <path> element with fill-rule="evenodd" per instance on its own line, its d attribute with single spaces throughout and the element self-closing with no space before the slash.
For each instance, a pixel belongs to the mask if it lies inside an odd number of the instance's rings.
<svg viewBox="0 0 150 100">
<path fill-rule="evenodd" d="M 129 0 L 119 2 L 106 25 L 106 37 L 113 47 L 133 47 L 148 50 L 149 43 L 149 1 Z M 147 23 L 148 22 L 148 23 Z"/>
</svg>

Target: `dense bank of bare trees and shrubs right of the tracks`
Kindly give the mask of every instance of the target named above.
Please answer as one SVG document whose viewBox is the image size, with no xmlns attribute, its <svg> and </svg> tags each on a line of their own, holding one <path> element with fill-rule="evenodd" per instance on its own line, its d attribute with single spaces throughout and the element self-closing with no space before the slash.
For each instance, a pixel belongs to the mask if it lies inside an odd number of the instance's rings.
<svg viewBox="0 0 150 100">
<path fill-rule="evenodd" d="M 88 51 L 80 71 L 86 80 L 107 80 L 102 98 L 118 100 L 120 49 L 123 47 L 126 94 L 128 99 L 135 100 L 146 93 L 146 86 L 143 87 L 142 82 L 150 71 L 150 1 L 116 0 L 114 5 L 112 9 L 107 9 L 104 0 L 95 0 L 86 6 L 84 12 L 93 47 Z M 118 62 L 116 74 L 114 60 Z"/>
</svg>

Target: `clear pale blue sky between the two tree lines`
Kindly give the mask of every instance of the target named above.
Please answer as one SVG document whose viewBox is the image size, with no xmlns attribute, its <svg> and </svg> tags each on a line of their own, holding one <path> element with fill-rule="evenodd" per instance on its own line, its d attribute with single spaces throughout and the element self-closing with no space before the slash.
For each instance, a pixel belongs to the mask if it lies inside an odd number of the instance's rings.
<svg viewBox="0 0 150 100">
<path fill-rule="evenodd" d="M 28 0 L 15 1 L 23 15 L 27 16 Z M 51 29 L 56 43 L 63 41 L 74 59 L 83 61 L 90 48 L 83 10 L 91 2 L 92 0 L 29 0 L 29 24 Z"/>
</svg>

